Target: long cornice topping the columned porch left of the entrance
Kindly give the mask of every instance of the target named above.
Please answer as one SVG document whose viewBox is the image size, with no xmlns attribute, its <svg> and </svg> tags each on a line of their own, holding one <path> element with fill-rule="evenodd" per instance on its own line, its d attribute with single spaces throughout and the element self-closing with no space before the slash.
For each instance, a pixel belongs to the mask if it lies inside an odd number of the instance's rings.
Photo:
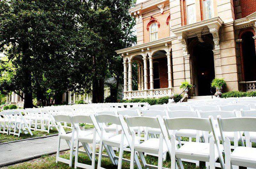
<svg viewBox="0 0 256 169">
<path fill-rule="evenodd" d="M 165 44 L 171 44 L 171 37 L 167 37 L 167 38 L 163 38 L 163 39 L 159 39 L 159 40 L 155 40 L 152 42 L 148 42 L 148 43 L 144 43 L 141 45 L 136 45 L 133 47 L 129 47 L 129 48 L 124 48 L 124 49 L 120 49 L 120 50 L 116 50 L 117 54 L 123 54 L 126 52 L 129 53 L 135 53 L 135 52 L 141 52 L 141 50 L 145 50 L 147 48 L 158 48 L 158 47 L 162 47 L 162 45 L 165 46 Z"/>
</svg>

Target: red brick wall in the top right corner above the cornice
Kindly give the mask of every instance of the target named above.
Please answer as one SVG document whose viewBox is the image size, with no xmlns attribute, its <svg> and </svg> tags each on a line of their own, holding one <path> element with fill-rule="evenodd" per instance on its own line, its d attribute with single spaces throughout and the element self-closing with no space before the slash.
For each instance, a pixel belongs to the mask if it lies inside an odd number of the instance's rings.
<svg viewBox="0 0 256 169">
<path fill-rule="evenodd" d="M 241 0 L 242 18 L 247 17 L 256 11 L 255 0 Z"/>
</svg>

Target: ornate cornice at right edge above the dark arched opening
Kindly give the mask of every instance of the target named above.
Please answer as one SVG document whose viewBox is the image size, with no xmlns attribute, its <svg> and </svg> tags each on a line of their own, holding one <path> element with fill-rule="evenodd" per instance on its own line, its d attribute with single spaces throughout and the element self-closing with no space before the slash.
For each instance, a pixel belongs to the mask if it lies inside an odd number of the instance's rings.
<svg viewBox="0 0 256 169">
<path fill-rule="evenodd" d="M 248 15 L 245 18 L 237 19 L 234 22 L 235 29 L 242 29 L 246 27 L 255 26 L 256 27 L 256 12 Z"/>
</svg>

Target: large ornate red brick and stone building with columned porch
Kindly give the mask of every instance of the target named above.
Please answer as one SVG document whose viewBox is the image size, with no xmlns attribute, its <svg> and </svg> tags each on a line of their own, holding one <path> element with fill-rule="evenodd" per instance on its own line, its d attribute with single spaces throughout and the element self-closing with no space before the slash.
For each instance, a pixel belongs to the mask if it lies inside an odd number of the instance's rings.
<svg viewBox="0 0 256 169">
<path fill-rule="evenodd" d="M 213 78 L 228 91 L 256 90 L 255 0 L 137 0 L 137 45 L 116 51 L 124 59 L 124 99 L 180 93 L 210 95 Z M 138 90 L 132 90 L 132 66 Z"/>
</svg>

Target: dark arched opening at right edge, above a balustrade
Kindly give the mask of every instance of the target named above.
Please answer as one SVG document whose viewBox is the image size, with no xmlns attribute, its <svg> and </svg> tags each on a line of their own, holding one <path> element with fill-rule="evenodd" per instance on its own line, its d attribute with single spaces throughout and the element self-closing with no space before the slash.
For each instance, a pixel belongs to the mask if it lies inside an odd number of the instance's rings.
<svg viewBox="0 0 256 169">
<path fill-rule="evenodd" d="M 245 32 L 242 35 L 244 80 L 246 82 L 256 80 L 256 52 L 252 32 Z"/>
</svg>

